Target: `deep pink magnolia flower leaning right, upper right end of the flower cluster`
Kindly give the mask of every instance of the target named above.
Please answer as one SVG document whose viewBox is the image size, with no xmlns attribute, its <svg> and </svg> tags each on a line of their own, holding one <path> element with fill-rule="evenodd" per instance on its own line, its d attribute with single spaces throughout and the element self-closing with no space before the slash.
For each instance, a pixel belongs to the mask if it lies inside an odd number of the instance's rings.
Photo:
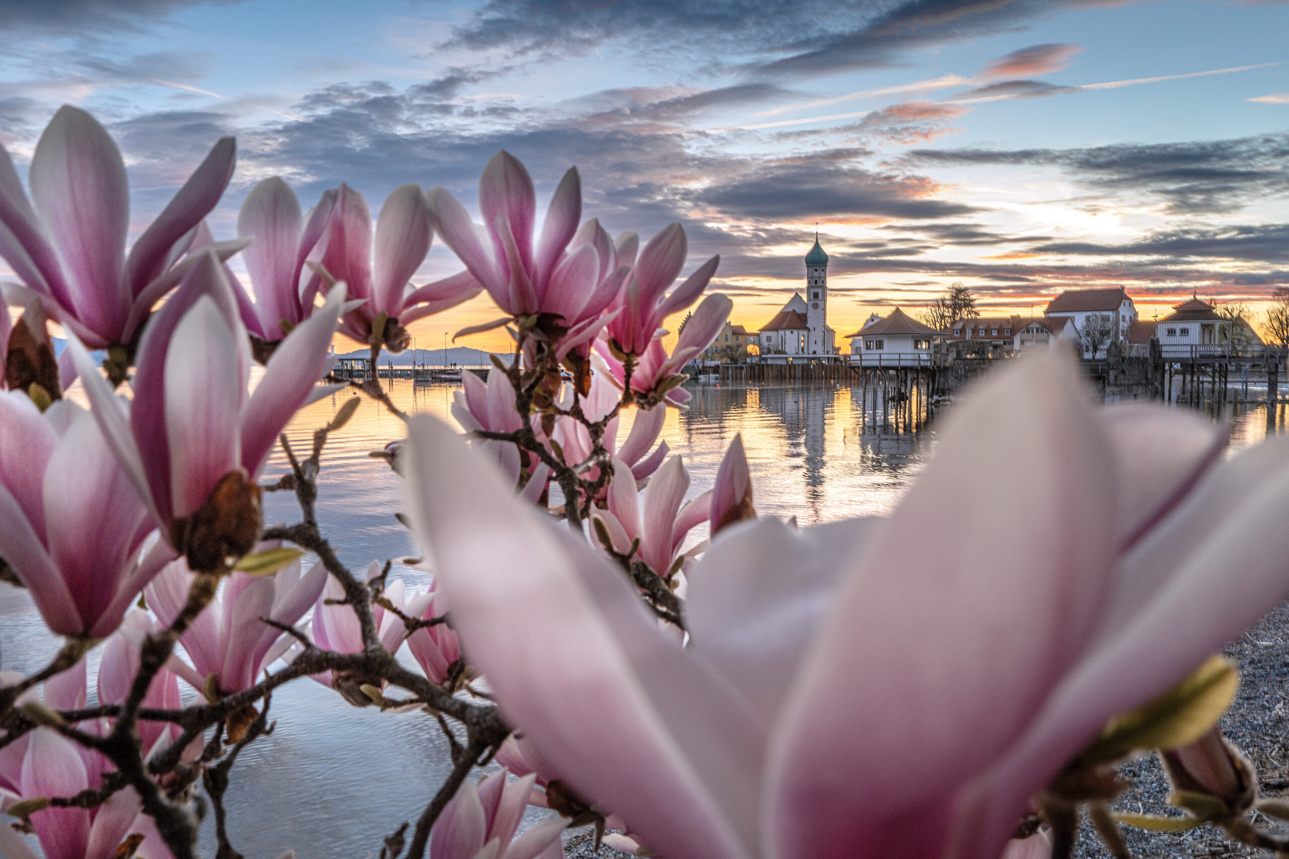
<svg viewBox="0 0 1289 859">
<path fill-rule="evenodd" d="M 650 344 L 657 339 L 663 320 L 692 304 L 708 288 L 712 275 L 721 264 L 719 255 L 703 263 L 683 284 L 670 294 L 666 293 L 666 288 L 675 282 L 681 273 L 687 255 L 684 228 L 678 223 L 668 224 L 644 245 L 626 288 L 614 304 L 621 312 L 608 324 L 606 331 L 619 352 L 643 356 Z M 719 329 L 719 325 L 717 328 Z M 710 342 L 699 351 L 708 346 Z"/>
</svg>

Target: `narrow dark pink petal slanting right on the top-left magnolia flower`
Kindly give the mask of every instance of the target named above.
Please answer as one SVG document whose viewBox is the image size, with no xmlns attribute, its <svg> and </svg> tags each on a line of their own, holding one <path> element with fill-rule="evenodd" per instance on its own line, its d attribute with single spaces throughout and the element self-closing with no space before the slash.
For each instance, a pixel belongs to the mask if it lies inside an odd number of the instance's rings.
<svg viewBox="0 0 1289 859">
<path fill-rule="evenodd" d="M 193 170 L 179 192 L 134 242 L 125 264 L 126 281 L 133 294 L 138 294 L 165 271 L 174 244 L 215 208 L 228 187 L 236 163 L 236 138 L 220 138 L 201 166 Z"/>
</svg>

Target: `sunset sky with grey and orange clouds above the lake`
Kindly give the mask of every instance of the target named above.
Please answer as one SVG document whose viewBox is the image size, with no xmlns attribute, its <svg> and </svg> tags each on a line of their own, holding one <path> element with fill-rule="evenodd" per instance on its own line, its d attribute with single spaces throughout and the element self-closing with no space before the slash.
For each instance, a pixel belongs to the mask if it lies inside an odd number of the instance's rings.
<svg viewBox="0 0 1289 859">
<path fill-rule="evenodd" d="M 499 150 L 543 210 L 576 165 L 611 233 L 679 221 L 686 273 L 719 254 L 750 330 L 816 230 L 839 338 L 954 281 L 990 315 L 1088 286 L 1142 319 L 1258 310 L 1289 285 L 1285 34 L 1284 0 L 0 0 L 0 144 L 24 174 L 58 106 L 89 110 L 138 235 L 233 134 L 217 239 L 272 175 L 305 206 L 414 182 L 477 215 Z M 415 282 L 460 268 L 436 242 Z"/>
</svg>

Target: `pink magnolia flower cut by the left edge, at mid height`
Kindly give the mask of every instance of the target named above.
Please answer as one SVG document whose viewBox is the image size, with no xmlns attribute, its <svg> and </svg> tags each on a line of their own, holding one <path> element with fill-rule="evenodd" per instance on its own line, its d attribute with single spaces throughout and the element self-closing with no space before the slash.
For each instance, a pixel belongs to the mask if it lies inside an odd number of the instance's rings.
<svg viewBox="0 0 1289 859">
<path fill-rule="evenodd" d="M 41 414 L 26 393 L 0 393 L 0 557 L 53 632 L 103 638 L 120 626 L 174 557 L 164 544 L 143 552 L 155 528 L 88 411 L 59 400 Z"/>
</svg>

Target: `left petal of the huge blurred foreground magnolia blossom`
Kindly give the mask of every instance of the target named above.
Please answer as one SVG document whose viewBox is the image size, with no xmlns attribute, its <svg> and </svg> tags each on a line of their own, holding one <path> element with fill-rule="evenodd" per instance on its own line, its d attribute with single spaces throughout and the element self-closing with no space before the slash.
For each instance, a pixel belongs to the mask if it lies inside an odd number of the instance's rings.
<svg viewBox="0 0 1289 859">
<path fill-rule="evenodd" d="M 754 855 L 764 738 L 733 690 L 659 631 L 620 570 L 517 503 L 456 433 L 428 415 L 409 430 L 419 542 L 508 717 L 580 795 L 632 809 L 664 855 Z M 463 485 L 473 491 L 447 494 Z"/>
</svg>

